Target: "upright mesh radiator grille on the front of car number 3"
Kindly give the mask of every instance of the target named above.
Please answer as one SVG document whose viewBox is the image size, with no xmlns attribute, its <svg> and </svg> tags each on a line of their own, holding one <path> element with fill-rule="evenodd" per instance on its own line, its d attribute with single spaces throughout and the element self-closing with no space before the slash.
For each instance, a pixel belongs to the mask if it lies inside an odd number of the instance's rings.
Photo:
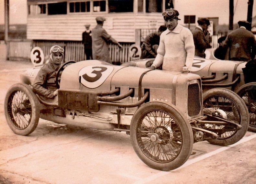
<svg viewBox="0 0 256 184">
<path fill-rule="evenodd" d="M 193 119 L 203 115 L 201 82 L 195 79 L 188 81 L 187 86 L 188 118 Z"/>
</svg>

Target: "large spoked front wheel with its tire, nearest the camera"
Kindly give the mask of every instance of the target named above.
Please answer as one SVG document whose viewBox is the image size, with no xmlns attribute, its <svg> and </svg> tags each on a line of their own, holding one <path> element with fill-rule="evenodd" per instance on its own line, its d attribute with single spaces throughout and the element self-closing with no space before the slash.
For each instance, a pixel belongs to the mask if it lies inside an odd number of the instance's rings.
<svg viewBox="0 0 256 184">
<path fill-rule="evenodd" d="M 162 102 L 142 105 L 130 126 L 131 142 L 149 167 L 169 171 L 183 165 L 193 147 L 192 128 L 175 107 Z"/>
</svg>

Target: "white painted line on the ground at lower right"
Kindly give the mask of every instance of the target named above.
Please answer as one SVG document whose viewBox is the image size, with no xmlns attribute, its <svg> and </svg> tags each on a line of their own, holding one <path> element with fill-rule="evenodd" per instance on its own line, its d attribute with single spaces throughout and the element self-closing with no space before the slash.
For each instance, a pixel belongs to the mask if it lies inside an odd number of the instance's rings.
<svg viewBox="0 0 256 184">
<path fill-rule="evenodd" d="M 152 180 L 154 180 L 154 179 L 157 179 L 157 178 L 159 178 L 159 177 L 165 176 L 165 175 L 167 175 L 167 174 L 172 173 L 172 171 L 176 171 L 176 170 L 179 170 L 179 169 L 181 169 L 181 168 L 187 167 L 187 166 L 189 166 L 189 165 L 191 165 L 191 164 L 193 164 L 193 163 L 196 163 L 196 162 L 198 162 L 198 161 L 200 161 L 200 160 L 203 160 L 203 159 L 205 159 L 205 158 L 208 158 L 208 157 L 211 157 L 211 156 L 213 156 L 213 155 L 216 155 L 216 154 L 218 154 L 218 153 L 220 153 L 220 152 L 222 152 L 222 151 L 225 151 L 225 150 L 227 150 L 227 149 L 229 149 L 229 148 L 231 148 L 231 147 L 234 147 L 234 146 L 237 146 L 237 145 L 239 145 L 239 144 L 241 144 L 241 143 L 245 143 L 245 142 L 247 142 L 247 141 L 250 141 L 251 139 L 253 139 L 253 138 L 255 138 L 255 137 L 256 137 L 256 134 L 250 135 L 250 136 L 248 136 L 248 137 L 243 137 L 241 140 L 239 140 L 239 141 L 238 141 L 237 143 L 235 143 L 235 144 L 232 144 L 232 145 L 229 145 L 229 146 L 220 147 L 220 148 L 218 148 L 218 149 L 216 149 L 216 150 L 214 150 L 214 151 L 212 151 L 212 152 L 206 153 L 206 154 L 204 154 L 204 155 L 202 155 L 202 156 L 200 156 L 200 157 L 196 157 L 196 158 L 193 158 L 193 159 L 190 159 L 190 160 L 186 161 L 185 164 L 183 164 L 182 166 L 180 166 L 180 167 L 177 168 L 177 169 L 174 169 L 174 170 L 171 170 L 171 171 L 161 171 L 161 172 L 159 172 L 159 173 L 157 173 L 157 174 L 154 174 L 154 175 L 152 175 L 152 176 L 150 176 L 150 177 L 147 177 L 147 178 L 138 180 L 138 181 L 134 182 L 134 184 L 146 183 L 146 182 L 152 181 Z"/>
</svg>

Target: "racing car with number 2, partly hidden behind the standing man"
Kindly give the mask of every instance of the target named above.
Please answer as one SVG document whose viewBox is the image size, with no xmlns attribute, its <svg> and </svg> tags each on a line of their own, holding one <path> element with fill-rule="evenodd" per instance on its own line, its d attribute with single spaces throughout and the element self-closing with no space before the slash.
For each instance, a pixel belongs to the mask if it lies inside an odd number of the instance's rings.
<svg viewBox="0 0 256 184">
<path fill-rule="evenodd" d="M 122 65 L 145 68 L 151 66 L 153 61 L 154 59 L 134 60 Z M 191 73 L 201 77 L 203 92 L 221 87 L 239 94 L 249 110 L 250 125 L 248 130 L 256 132 L 256 77 L 251 79 L 252 82 L 245 84 L 245 75 L 242 69 L 246 68 L 246 64 L 247 62 L 242 61 L 208 60 L 195 57 Z"/>
</svg>

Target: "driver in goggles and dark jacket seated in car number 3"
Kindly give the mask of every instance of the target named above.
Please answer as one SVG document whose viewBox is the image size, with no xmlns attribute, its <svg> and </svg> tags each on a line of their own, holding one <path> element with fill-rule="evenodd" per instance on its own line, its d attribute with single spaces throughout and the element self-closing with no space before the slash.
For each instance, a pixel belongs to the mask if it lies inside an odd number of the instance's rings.
<svg viewBox="0 0 256 184">
<path fill-rule="evenodd" d="M 50 49 L 50 59 L 38 72 L 33 83 L 33 92 L 47 98 L 58 95 L 55 77 L 61 64 L 63 64 L 64 49 L 54 45 Z"/>
</svg>

